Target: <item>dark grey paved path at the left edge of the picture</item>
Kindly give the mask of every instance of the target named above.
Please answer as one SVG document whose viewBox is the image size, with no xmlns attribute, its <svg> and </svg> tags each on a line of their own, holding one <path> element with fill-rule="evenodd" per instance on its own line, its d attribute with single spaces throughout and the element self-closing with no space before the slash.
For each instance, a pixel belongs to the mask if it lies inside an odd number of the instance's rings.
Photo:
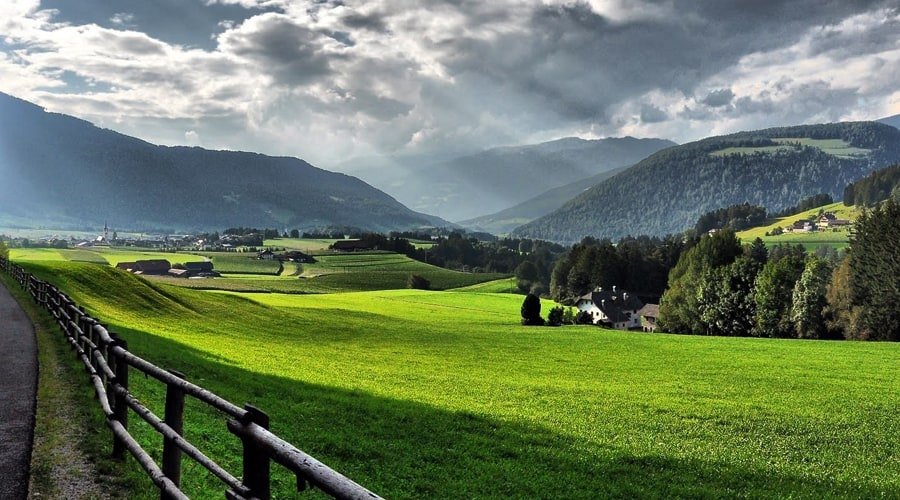
<svg viewBox="0 0 900 500">
<path fill-rule="evenodd" d="M 37 347 L 31 320 L 0 283 L 0 498 L 28 494 Z"/>
</svg>

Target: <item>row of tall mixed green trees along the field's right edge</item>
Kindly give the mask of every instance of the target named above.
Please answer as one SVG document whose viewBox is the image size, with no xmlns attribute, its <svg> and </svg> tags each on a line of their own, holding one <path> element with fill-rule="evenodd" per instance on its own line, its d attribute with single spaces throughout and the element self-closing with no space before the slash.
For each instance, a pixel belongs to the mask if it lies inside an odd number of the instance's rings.
<svg viewBox="0 0 900 500">
<path fill-rule="evenodd" d="M 703 236 L 669 274 L 665 331 L 727 336 L 900 340 L 900 205 L 856 221 L 844 255 L 800 245 L 742 247 L 730 229 Z"/>
</svg>

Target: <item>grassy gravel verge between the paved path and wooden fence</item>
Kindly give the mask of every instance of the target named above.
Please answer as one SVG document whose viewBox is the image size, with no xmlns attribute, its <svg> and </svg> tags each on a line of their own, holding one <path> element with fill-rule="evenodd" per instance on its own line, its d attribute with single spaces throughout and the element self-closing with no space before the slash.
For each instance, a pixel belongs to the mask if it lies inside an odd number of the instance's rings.
<svg viewBox="0 0 900 500">
<path fill-rule="evenodd" d="M 5 273 L 0 280 L 34 324 L 38 346 L 29 498 L 134 498 L 142 471 L 111 458 L 112 434 L 81 362 L 55 320 Z"/>
</svg>

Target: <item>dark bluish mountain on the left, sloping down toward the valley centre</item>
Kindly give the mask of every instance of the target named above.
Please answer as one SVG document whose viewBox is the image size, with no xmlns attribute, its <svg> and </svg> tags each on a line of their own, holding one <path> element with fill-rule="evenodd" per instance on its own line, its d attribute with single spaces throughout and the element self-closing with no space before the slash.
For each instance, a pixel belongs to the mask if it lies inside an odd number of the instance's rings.
<svg viewBox="0 0 900 500">
<path fill-rule="evenodd" d="M 297 158 L 155 146 L 0 94 L 0 220 L 57 227 L 445 225 Z"/>
</svg>

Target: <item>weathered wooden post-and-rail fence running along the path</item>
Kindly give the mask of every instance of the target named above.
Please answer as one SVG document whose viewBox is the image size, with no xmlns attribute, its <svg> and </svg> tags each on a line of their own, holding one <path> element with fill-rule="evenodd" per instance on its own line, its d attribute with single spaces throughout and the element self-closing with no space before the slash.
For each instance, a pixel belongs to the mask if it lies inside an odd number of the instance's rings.
<svg viewBox="0 0 900 500">
<path fill-rule="evenodd" d="M 160 490 L 160 498 L 188 498 L 180 489 L 181 460 L 194 460 L 224 483 L 229 500 L 267 500 L 270 464 L 281 464 L 297 477 L 297 490 L 312 485 L 334 498 L 372 499 L 368 491 L 327 465 L 269 432 L 269 417 L 259 409 L 243 408 L 132 354 L 127 343 L 85 313 L 66 294 L 37 279 L 21 266 L 0 258 L 0 269 L 11 275 L 41 307 L 56 318 L 66 340 L 84 363 L 97 393 L 106 424 L 113 433 L 113 456 L 128 451 Z M 165 415 L 159 418 L 128 391 L 129 371 L 135 369 L 166 386 Z M 227 428 L 243 445 L 243 474 L 232 475 L 183 436 L 184 400 L 191 396 L 227 416 Z M 150 424 L 163 438 L 162 464 L 158 465 L 128 433 L 129 410 Z"/>
</svg>

